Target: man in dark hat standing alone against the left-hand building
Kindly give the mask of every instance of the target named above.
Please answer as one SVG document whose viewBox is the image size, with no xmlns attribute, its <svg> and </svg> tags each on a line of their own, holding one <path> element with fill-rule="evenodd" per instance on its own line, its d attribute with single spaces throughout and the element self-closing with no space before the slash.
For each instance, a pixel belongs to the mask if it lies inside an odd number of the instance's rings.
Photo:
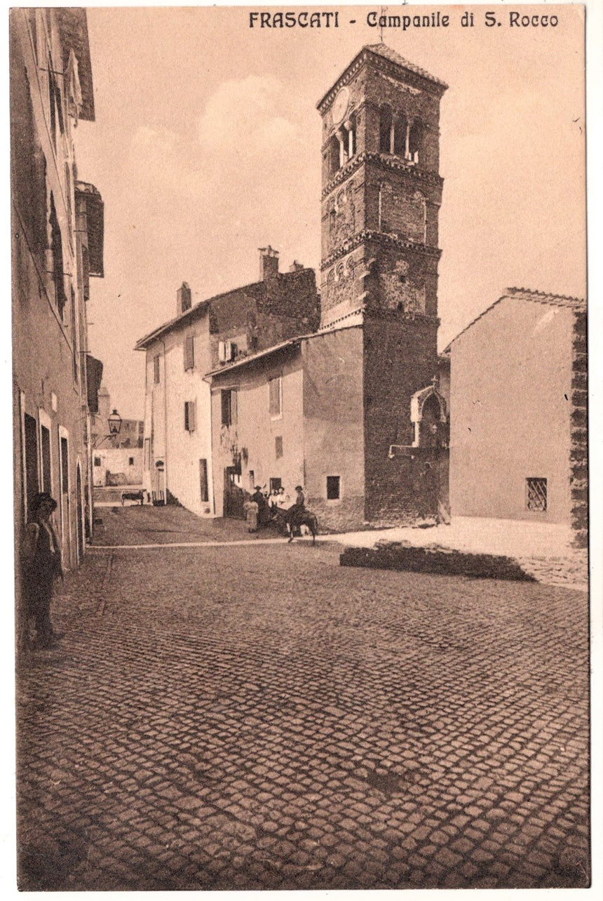
<svg viewBox="0 0 603 901">
<path fill-rule="evenodd" d="M 23 588 L 27 615 L 35 625 L 37 648 L 55 647 L 58 639 L 50 622 L 52 585 L 55 578 L 63 578 L 57 536 L 50 522 L 56 509 L 57 502 L 48 492 L 34 495 L 23 539 Z"/>
</svg>

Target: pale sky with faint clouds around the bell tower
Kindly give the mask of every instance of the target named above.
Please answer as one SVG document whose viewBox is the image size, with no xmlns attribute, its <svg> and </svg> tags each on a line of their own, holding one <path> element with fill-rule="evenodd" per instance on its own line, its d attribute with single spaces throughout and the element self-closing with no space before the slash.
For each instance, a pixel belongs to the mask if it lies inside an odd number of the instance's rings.
<svg viewBox="0 0 603 901">
<path fill-rule="evenodd" d="M 249 7 L 88 9 L 95 122 L 78 123 L 77 166 L 105 212 L 89 344 L 123 417 L 143 414 L 134 344 L 175 315 L 183 281 L 193 304 L 256 281 L 266 244 L 282 270 L 297 259 L 320 271 L 316 104 L 381 37 L 365 21 L 379 7 L 325 8 L 338 29 L 250 29 Z M 439 8 L 447 28 L 385 29 L 383 41 L 449 85 L 442 349 L 506 287 L 585 296 L 585 127 L 580 6 L 533 10 L 557 14 L 553 28 L 509 27 L 502 7 L 493 28 L 486 7 Z"/>
</svg>

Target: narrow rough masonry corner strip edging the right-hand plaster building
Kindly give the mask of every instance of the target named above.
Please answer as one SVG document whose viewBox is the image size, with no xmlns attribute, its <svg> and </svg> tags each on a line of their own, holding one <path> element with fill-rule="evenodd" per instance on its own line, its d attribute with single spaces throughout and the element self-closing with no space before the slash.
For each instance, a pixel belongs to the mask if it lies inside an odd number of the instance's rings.
<svg viewBox="0 0 603 901">
<path fill-rule="evenodd" d="M 588 547 L 589 536 L 589 445 L 588 445 L 588 354 L 586 313 L 574 315 L 572 330 L 572 528 L 574 545 Z"/>
</svg>

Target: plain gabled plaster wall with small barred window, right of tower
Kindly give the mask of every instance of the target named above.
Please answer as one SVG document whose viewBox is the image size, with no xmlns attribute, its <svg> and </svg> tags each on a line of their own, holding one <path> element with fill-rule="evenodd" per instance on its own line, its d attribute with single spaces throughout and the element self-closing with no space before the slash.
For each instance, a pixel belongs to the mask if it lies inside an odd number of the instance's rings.
<svg viewBox="0 0 603 901">
<path fill-rule="evenodd" d="M 586 502 L 586 389 L 576 389 L 585 335 L 583 301 L 511 290 L 452 341 L 453 515 L 576 524 Z M 545 505 L 528 479 L 545 480 Z"/>
</svg>

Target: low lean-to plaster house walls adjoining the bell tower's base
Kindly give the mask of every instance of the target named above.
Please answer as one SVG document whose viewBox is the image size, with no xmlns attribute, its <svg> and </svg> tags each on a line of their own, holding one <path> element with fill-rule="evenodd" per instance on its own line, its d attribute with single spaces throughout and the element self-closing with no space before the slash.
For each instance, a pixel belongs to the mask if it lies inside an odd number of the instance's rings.
<svg viewBox="0 0 603 901">
<path fill-rule="evenodd" d="M 278 413 L 271 407 L 274 380 L 280 380 Z M 364 521 L 359 326 L 301 337 L 214 372 L 211 381 L 218 515 L 229 512 L 229 495 L 242 497 L 255 485 L 269 490 L 279 479 L 292 504 L 295 486 L 304 487 L 306 504 L 322 527 L 344 529 Z M 237 414 L 226 425 L 222 395 L 230 391 L 237 395 Z"/>
</svg>

